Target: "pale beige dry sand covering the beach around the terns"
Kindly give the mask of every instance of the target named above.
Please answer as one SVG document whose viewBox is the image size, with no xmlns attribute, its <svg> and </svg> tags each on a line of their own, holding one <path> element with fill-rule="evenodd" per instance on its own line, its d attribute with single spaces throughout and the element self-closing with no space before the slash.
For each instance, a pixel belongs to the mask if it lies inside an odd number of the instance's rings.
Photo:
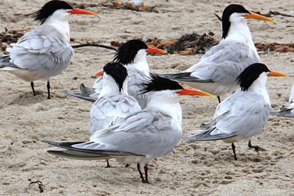
<svg viewBox="0 0 294 196">
<path fill-rule="evenodd" d="M 0 1 L 0 27 L 32 29 L 36 22 L 24 15 L 38 10 L 45 1 Z M 82 2 L 82 1 L 75 1 Z M 92 0 L 92 3 L 100 1 Z M 221 38 L 221 14 L 233 1 L 148 1 L 159 13 L 88 8 L 101 15 L 71 15 L 71 37 L 76 41 L 127 41 L 143 36 L 169 39 L 196 31 L 214 31 Z M 267 13 L 276 10 L 292 14 L 291 1 L 236 1 L 248 10 Z M 88 1 L 88 3 L 90 3 Z M 274 16 L 278 22 L 250 20 L 248 25 L 255 42 L 293 42 L 293 18 Z M 80 83 L 92 85 L 90 75 L 102 69 L 113 57 L 113 51 L 102 48 L 80 48 L 71 65 L 51 79 L 52 99 L 46 99 L 45 81 L 36 81 L 38 95 L 33 97 L 29 83 L 10 73 L 0 77 L 0 195 L 37 195 L 38 186 L 27 190 L 30 181 L 43 182 L 42 195 L 294 195 L 293 118 L 270 116 L 265 131 L 253 137 L 253 144 L 267 149 L 258 155 L 248 149 L 246 141 L 236 144 L 238 161 L 229 144 L 222 141 L 188 143 L 181 141 L 167 158 L 150 165 L 151 184 L 142 184 L 134 166 L 125 168 L 111 161 L 82 161 L 56 158 L 46 153 L 56 149 L 42 144 L 42 139 L 86 141 L 90 132 L 90 102 L 61 94 L 62 90 L 78 92 Z M 175 73 L 200 60 L 201 55 L 149 56 L 151 70 Z M 293 53 L 269 52 L 260 55 L 271 69 L 288 73 L 288 78 L 269 78 L 267 87 L 272 110 L 286 104 L 293 85 Z M 181 97 L 183 136 L 198 130 L 211 120 L 216 99 Z"/>
</svg>

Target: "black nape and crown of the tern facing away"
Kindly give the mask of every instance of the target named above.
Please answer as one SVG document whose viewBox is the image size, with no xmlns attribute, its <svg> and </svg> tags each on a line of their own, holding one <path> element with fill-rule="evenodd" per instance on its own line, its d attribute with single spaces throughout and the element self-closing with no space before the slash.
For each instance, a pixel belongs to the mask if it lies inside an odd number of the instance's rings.
<svg viewBox="0 0 294 196">
<path fill-rule="evenodd" d="M 118 88 L 121 91 L 123 89 L 123 82 L 127 78 L 127 69 L 119 62 L 109 62 L 104 65 L 103 70 L 116 80 Z"/>
</svg>

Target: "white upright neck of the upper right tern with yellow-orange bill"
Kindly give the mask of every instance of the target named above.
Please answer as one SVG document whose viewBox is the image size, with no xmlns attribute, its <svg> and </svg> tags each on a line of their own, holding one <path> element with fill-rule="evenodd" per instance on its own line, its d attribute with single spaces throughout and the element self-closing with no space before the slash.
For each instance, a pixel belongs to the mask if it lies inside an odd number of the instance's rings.
<svg viewBox="0 0 294 196">
<path fill-rule="evenodd" d="M 238 41 L 246 43 L 256 52 L 256 54 L 258 54 L 245 18 L 236 18 L 236 20 L 230 21 L 228 34 L 222 39 L 222 41 Z"/>
</svg>

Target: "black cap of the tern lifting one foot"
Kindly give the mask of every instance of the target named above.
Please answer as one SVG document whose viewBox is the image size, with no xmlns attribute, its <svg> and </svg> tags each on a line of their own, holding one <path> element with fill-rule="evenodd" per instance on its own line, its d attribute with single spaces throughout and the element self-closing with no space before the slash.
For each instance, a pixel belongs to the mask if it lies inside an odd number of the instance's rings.
<svg viewBox="0 0 294 196">
<path fill-rule="evenodd" d="M 263 72 L 270 72 L 265 64 L 255 63 L 247 66 L 236 79 L 241 90 L 246 91 Z"/>
</svg>

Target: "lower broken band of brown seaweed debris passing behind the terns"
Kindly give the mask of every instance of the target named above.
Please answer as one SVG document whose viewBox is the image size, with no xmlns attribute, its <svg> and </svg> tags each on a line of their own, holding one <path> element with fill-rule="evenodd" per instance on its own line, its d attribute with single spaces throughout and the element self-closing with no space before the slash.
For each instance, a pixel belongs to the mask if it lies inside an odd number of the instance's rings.
<svg viewBox="0 0 294 196">
<path fill-rule="evenodd" d="M 5 29 L 3 32 L 0 31 L 1 50 L 5 52 L 7 45 L 16 43 L 27 31 L 27 29 Z M 73 41 L 73 39 L 71 39 L 71 41 Z M 207 50 L 218 43 L 219 42 L 214 39 L 213 32 L 204 33 L 202 35 L 193 32 L 192 34 L 183 34 L 180 38 L 172 38 L 166 41 L 162 38 L 153 38 L 146 41 L 146 44 L 149 46 L 166 50 L 170 54 L 178 53 L 180 55 L 205 54 Z M 122 44 L 123 43 L 118 41 L 111 41 L 111 46 L 115 46 L 116 48 Z M 116 50 L 116 48 L 109 45 L 101 45 L 95 42 L 80 43 L 80 45 L 73 45 L 73 48 L 85 46 Z M 258 52 L 294 52 L 294 43 L 255 43 L 255 47 Z"/>
</svg>

